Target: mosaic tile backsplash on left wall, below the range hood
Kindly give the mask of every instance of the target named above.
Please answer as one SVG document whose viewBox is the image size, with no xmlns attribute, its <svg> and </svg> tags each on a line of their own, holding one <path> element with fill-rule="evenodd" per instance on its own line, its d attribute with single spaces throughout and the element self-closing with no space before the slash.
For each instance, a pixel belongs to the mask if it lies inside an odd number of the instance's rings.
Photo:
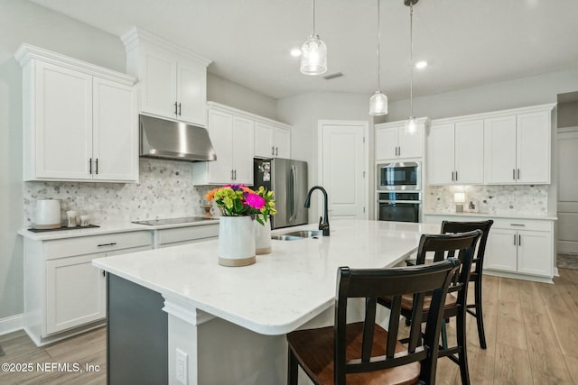
<svg viewBox="0 0 578 385">
<path fill-rule="evenodd" d="M 24 225 L 34 223 L 36 200 L 60 199 L 67 210 L 90 215 L 91 224 L 202 215 L 210 187 L 192 184 L 190 162 L 140 159 L 139 183 L 25 182 Z"/>
</svg>

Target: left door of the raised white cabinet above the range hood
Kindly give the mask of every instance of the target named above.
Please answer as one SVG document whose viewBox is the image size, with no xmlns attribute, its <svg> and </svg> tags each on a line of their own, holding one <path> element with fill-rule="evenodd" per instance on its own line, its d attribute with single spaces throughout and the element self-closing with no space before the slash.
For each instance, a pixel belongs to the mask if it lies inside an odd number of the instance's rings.
<svg viewBox="0 0 578 385">
<path fill-rule="evenodd" d="M 175 118 L 177 60 L 163 51 L 145 50 L 141 78 L 144 113 Z"/>
</svg>

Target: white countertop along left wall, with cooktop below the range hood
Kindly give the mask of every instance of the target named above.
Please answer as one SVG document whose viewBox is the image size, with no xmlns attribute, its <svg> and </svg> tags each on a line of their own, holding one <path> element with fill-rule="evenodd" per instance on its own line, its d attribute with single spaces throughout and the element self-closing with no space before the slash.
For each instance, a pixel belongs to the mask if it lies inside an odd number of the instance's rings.
<svg viewBox="0 0 578 385">
<path fill-rule="evenodd" d="M 202 226 L 202 225 L 218 225 L 219 220 L 211 221 L 201 221 L 201 222 L 189 222 L 184 224 L 172 224 L 172 225 L 140 225 L 133 224 L 131 222 L 119 222 L 119 223 L 109 223 L 98 225 L 99 227 L 74 227 L 70 230 L 55 230 L 46 231 L 40 233 L 33 233 L 28 229 L 22 229 L 18 231 L 18 234 L 32 239 L 33 241 L 51 241 L 55 239 L 65 239 L 74 238 L 79 236 L 91 236 L 100 234 L 113 234 L 113 233 L 127 233 L 142 230 L 163 230 L 176 227 L 188 227 L 188 226 Z"/>
</svg>

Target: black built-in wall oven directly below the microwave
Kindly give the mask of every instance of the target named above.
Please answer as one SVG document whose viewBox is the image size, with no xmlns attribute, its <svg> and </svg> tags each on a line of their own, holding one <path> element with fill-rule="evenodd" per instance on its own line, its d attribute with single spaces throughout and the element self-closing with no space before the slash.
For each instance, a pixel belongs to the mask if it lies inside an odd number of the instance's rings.
<svg viewBox="0 0 578 385">
<path fill-rule="evenodd" d="M 378 191 L 378 220 L 419 222 L 421 195 L 420 191 Z"/>
</svg>

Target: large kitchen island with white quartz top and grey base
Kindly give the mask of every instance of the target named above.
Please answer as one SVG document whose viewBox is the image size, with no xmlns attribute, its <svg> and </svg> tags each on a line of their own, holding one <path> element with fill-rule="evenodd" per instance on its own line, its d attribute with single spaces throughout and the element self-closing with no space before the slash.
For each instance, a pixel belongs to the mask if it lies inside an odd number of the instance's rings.
<svg viewBox="0 0 578 385">
<path fill-rule="evenodd" d="M 439 226 L 336 220 L 331 236 L 274 240 L 241 268 L 219 265 L 218 240 L 94 260 L 109 274 L 108 381 L 156 365 L 171 384 L 284 383 L 284 335 L 332 324 L 338 267 L 395 266 L 424 233 Z"/>
</svg>

